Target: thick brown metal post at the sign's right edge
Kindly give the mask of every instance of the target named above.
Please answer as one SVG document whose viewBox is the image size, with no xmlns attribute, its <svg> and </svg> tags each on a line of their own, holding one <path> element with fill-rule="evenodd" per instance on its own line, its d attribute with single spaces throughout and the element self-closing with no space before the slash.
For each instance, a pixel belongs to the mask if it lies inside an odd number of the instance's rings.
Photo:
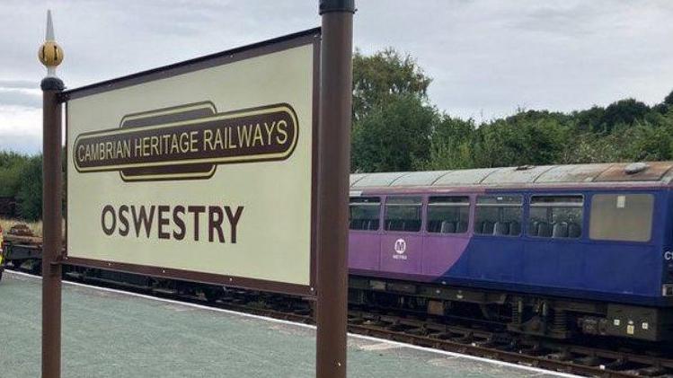
<svg viewBox="0 0 673 378">
<path fill-rule="evenodd" d="M 320 0 L 318 261 L 315 374 L 346 376 L 348 201 L 354 0 Z"/>
</svg>

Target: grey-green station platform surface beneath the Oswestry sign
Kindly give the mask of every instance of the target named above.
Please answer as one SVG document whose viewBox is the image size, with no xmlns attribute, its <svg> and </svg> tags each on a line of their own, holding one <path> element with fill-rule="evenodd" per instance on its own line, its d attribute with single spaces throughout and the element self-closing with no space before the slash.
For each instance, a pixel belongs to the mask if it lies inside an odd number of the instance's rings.
<svg viewBox="0 0 673 378">
<path fill-rule="evenodd" d="M 40 376 L 40 278 L 0 282 L 0 377 Z M 65 284 L 64 377 L 312 377 L 314 328 Z M 351 335 L 350 377 L 545 377 L 535 368 Z"/>
</svg>

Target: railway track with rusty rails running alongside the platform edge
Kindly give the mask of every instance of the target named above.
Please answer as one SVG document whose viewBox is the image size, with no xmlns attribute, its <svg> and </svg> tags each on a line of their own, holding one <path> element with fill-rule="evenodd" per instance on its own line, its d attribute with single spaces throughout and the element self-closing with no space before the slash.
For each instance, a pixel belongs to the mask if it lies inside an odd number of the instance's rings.
<svg viewBox="0 0 673 378">
<path fill-rule="evenodd" d="M 81 281 L 81 277 L 76 276 L 66 279 Z M 311 305 L 299 298 L 236 289 L 227 291 L 226 295 L 213 302 L 208 301 L 203 295 L 181 295 L 166 289 L 147 289 L 93 279 L 87 279 L 86 283 L 113 286 L 190 303 L 208 303 L 212 307 L 285 321 L 314 323 Z M 542 338 L 520 338 L 517 335 L 483 327 L 467 327 L 422 319 L 413 314 L 351 309 L 348 329 L 351 333 L 360 335 L 566 374 L 605 378 L 673 377 L 673 359 L 653 355 L 650 350 L 639 353 L 633 350 L 574 345 Z"/>
</svg>

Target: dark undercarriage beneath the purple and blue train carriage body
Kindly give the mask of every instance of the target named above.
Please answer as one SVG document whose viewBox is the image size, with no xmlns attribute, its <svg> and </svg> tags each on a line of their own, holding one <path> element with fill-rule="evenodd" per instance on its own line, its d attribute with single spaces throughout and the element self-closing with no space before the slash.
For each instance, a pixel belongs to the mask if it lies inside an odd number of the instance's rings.
<svg viewBox="0 0 673 378">
<path fill-rule="evenodd" d="M 537 337 L 673 338 L 673 317 L 663 308 L 358 276 L 350 277 L 349 292 L 349 302 L 354 305 L 481 321 Z"/>
</svg>

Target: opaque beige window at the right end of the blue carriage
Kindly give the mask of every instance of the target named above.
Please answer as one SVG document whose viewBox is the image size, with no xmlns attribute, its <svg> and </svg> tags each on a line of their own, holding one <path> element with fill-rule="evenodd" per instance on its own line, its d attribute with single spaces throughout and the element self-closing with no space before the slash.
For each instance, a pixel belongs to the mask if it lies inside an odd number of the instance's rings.
<svg viewBox="0 0 673 378">
<path fill-rule="evenodd" d="M 589 237 L 594 240 L 649 242 L 654 196 L 596 194 L 591 197 Z"/>
</svg>

